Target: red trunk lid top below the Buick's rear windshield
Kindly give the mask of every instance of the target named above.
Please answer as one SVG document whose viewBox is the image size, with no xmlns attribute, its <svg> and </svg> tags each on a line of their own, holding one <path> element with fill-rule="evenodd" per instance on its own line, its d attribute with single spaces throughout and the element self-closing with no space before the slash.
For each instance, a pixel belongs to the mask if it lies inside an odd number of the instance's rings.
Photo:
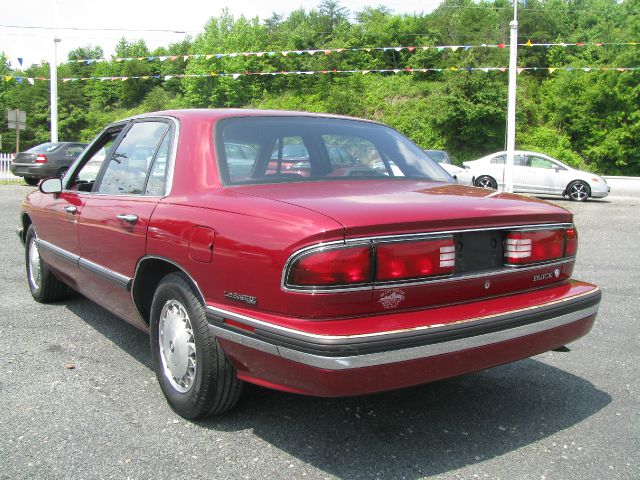
<svg viewBox="0 0 640 480">
<path fill-rule="evenodd" d="M 571 221 L 568 211 L 538 199 L 441 182 L 296 182 L 239 191 L 327 215 L 347 239 Z"/>
</svg>

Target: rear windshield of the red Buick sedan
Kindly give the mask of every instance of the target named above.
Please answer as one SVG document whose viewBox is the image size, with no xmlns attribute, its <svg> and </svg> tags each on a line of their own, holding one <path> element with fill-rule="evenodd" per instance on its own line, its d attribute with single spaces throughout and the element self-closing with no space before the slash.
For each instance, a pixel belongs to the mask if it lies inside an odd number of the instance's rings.
<svg viewBox="0 0 640 480">
<path fill-rule="evenodd" d="M 375 123 L 318 117 L 237 117 L 217 124 L 225 184 L 410 178 L 451 182 L 419 147 Z"/>
</svg>

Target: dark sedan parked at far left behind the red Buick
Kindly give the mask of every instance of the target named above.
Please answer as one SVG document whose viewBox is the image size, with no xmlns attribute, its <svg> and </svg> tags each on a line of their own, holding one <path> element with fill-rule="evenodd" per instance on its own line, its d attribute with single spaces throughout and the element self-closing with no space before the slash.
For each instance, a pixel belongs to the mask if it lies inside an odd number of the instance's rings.
<svg viewBox="0 0 640 480">
<path fill-rule="evenodd" d="M 42 143 L 18 153 L 9 168 L 29 185 L 37 185 L 42 178 L 62 177 L 86 146 L 77 142 Z"/>
</svg>

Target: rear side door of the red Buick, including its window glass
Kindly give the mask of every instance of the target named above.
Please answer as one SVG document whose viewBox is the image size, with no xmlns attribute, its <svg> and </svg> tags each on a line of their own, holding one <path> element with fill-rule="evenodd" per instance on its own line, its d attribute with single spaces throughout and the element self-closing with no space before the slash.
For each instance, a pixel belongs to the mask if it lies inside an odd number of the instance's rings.
<svg viewBox="0 0 640 480">
<path fill-rule="evenodd" d="M 86 294 L 143 327 L 130 289 L 146 252 L 149 220 L 165 194 L 171 125 L 148 119 L 130 125 L 108 156 L 78 224 Z"/>
</svg>

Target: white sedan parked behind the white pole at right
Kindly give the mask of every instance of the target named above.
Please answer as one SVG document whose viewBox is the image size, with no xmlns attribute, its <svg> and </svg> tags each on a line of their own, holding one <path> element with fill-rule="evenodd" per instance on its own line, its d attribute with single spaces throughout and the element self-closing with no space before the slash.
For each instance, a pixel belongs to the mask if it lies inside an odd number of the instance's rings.
<svg viewBox="0 0 640 480">
<path fill-rule="evenodd" d="M 464 162 L 476 187 L 502 187 L 506 152 L 496 152 L 478 160 Z M 576 170 L 543 153 L 516 150 L 513 165 L 513 191 L 568 196 L 583 202 L 589 197 L 606 197 L 611 189 L 604 178 Z"/>
</svg>

